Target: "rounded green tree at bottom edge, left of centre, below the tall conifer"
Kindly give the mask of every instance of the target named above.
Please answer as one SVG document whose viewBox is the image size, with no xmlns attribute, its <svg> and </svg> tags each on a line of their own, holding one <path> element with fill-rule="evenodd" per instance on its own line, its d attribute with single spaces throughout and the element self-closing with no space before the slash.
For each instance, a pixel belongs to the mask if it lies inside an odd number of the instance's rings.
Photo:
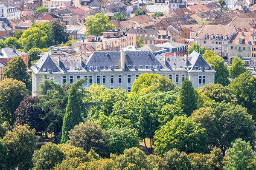
<svg viewBox="0 0 256 170">
<path fill-rule="evenodd" d="M 32 162 L 33 170 L 51 170 L 65 158 L 65 154 L 56 144 L 51 142 L 44 144 L 39 150 L 35 150 Z"/>
</svg>

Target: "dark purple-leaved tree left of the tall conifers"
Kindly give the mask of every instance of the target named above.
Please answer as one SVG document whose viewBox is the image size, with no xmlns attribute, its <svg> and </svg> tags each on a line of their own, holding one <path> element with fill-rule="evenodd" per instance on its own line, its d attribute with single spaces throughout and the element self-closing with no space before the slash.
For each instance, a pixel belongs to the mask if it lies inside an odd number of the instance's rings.
<svg viewBox="0 0 256 170">
<path fill-rule="evenodd" d="M 37 133 L 43 132 L 46 129 L 45 112 L 41 108 L 35 108 L 38 102 L 38 96 L 26 96 L 14 113 L 14 125 L 27 124 Z"/>
</svg>

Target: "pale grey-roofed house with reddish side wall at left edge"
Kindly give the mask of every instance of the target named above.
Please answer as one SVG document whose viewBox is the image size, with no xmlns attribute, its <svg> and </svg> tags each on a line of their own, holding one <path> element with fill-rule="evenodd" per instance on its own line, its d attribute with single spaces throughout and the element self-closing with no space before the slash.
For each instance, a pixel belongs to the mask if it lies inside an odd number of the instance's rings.
<svg viewBox="0 0 256 170">
<path fill-rule="evenodd" d="M 26 53 L 16 50 L 16 47 L 13 48 L 1 48 L 0 49 L 0 62 L 8 65 L 8 62 L 11 61 L 14 57 L 20 56 L 26 65 L 28 65 L 28 58 Z"/>
</svg>

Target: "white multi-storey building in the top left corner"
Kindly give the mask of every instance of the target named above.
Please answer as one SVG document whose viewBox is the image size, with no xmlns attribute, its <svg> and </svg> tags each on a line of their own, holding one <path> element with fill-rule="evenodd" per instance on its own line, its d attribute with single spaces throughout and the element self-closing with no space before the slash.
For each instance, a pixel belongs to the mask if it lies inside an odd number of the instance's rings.
<svg viewBox="0 0 256 170">
<path fill-rule="evenodd" d="M 0 5 L 0 12 L 1 17 L 6 17 L 8 20 L 20 19 L 20 10 L 18 10 L 18 7 L 5 7 L 4 5 Z"/>
</svg>

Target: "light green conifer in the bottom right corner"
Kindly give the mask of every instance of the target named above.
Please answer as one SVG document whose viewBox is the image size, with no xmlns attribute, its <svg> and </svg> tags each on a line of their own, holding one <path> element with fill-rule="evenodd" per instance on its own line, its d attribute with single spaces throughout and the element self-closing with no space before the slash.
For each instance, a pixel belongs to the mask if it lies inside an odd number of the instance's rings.
<svg viewBox="0 0 256 170">
<path fill-rule="evenodd" d="M 224 170 L 253 170 L 254 152 L 250 142 L 245 142 L 241 138 L 232 142 L 232 148 L 227 150 L 228 161 Z"/>
</svg>

